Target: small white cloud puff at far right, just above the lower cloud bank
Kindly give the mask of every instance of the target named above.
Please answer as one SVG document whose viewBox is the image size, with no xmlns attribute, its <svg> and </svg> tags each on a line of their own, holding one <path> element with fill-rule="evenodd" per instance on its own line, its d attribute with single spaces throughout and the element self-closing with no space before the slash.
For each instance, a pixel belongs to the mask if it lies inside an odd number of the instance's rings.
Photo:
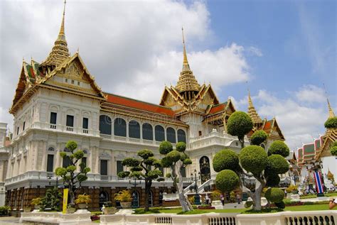
<svg viewBox="0 0 337 225">
<path fill-rule="evenodd" d="M 295 93 L 299 101 L 322 102 L 326 101 L 324 90 L 314 85 L 304 85 Z"/>
</svg>

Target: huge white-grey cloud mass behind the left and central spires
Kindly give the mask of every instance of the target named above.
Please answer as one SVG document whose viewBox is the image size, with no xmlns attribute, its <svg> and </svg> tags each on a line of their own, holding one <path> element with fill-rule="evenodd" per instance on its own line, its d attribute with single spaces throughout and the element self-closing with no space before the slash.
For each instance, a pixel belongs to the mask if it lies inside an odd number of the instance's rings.
<svg viewBox="0 0 337 225">
<path fill-rule="evenodd" d="M 0 97 L 9 109 L 21 59 L 46 59 L 57 37 L 61 2 L 1 1 Z M 38 13 L 27 13 L 38 12 Z M 33 16 L 32 16 L 33 15 Z M 213 39 L 205 2 L 69 1 L 65 35 L 72 53 L 77 47 L 104 91 L 159 102 L 164 84 L 176 84 L 182 67 L 181 26 L 188 60 L 198 81 L 215 89 L 250 77 L 245 47 L 232 43 L 217 50 L 194 50 Z M 249 48 L 249 47 L 248 47 Z M 258 52 L 258 51 L 257 51 Z M 11 119 L 0 114 L 0 121 Z"/>
</svg>

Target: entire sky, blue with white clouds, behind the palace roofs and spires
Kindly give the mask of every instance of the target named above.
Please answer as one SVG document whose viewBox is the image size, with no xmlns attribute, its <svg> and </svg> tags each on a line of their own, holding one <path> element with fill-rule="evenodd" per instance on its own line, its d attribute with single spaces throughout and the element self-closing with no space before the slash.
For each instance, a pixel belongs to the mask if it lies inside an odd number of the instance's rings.
<svg viewBox="0 0 337 225">
<path fill-rule="evenodd" d="M 62 12 L 63 1 L 0 1 L 0 121 L 11 130 L 22 58 L 46 59 Z M 291 149 L 325 132 L 323 83 L 337 111 L 336 1 L 70 0 L 65 12 L 70 53 L 80 49 L 97 84 L 156 104 L 181 71 L 181 26 L 194 75 L 221 101 L 247 111 L 249 87 Z"/>
</svg>

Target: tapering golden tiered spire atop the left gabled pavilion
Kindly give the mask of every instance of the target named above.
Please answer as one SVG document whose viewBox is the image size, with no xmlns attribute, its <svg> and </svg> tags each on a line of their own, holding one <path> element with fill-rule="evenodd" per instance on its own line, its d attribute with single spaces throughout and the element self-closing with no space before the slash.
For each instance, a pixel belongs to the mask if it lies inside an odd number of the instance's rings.
<svg viewBox="0 0 337 225">
<path fill-rule="evenodd" d="M 68 43 L 65 40 L 65 1 L 63 7 L 63 17 L 60 26 L 60 32 L 58 33 L 58 38 L 55 40 L 54 46 L 49 53 L 47 59 L 41 63 L 41 65 L 52 65 L 57 67 L 64 60 L 70 57 L 68 50 Z"/>
</svg>

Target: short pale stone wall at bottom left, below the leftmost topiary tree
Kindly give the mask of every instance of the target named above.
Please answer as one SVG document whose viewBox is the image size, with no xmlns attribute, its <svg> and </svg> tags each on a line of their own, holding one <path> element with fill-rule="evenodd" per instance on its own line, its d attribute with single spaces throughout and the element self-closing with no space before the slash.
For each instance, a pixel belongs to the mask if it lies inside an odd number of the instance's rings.
<svg viewBox="0 0 337 225">
<path fill-rule="evenodd" d="M 91 224 L 90 212 L 73 214 L 62 214 L 62 212 L 23 212 L 20 223 L 23 221 L 37 222 L 43 224 Z"/>
</svg>

